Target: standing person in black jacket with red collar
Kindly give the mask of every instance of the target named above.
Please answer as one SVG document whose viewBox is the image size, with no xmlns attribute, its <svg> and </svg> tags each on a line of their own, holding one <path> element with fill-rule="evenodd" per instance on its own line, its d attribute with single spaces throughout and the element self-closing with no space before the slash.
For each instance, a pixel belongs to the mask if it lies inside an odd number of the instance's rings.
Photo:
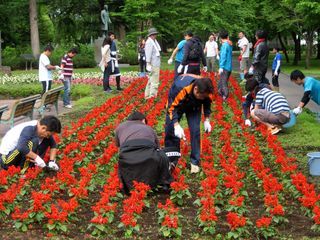
<svg viewBox="0 0 320 240">
<path fill-rule="evenodd" d="M 254 79 L 258 83 L 269 84 L 269 80 L 266 78 L 268 70 L 268 57 L 269 47 L 267 45 L 267 32 L 265 30 L 256 31 L 257 42 L 254 45 L 254 53 L 252 66 L 249 71 L 253 73 Z"/>
</svg>

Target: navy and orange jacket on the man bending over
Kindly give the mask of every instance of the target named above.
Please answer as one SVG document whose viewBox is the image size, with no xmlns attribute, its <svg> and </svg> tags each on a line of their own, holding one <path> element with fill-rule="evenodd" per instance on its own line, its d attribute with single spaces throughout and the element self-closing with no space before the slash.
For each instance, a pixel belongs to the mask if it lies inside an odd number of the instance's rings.
<svg viewBox="0 0 320 240">
<path fill-rule="evenodd" d="M 193 95 L 193 83 L 196 79 L 191 76 L 178 76 L 174 81 L 168 96 L 167 113 L 174 123 L 178 122 L 185 112 L 199 108 L 203 105 L 204 115 L 210 116 L 212 96 L 198 100 Z"/>
</svg>

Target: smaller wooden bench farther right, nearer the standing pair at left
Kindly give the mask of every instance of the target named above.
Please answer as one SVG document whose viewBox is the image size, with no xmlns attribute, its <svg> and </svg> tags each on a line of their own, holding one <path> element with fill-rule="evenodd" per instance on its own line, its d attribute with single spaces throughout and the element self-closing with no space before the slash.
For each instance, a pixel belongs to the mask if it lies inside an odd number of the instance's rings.
<svg viewBox="0 0 320 240">
<path fill-rule="evenodd" d="M 60 92 L 63 89 L 64 89 L 64 86 L 53 88 L 53 89 L 47 91 L 46 93 L 44 93 L 42 95 L 41 99 L 39 99 L 36 102 L 34 108 L 39 112 L 41 117 L 43 117 L 43 115 L 44 115 L 46 105 L 49 105 L 49 104 L 52 104 L 55 106 L 56 112 L 58 115 L 58 100 L 59 100 Z"/>
</svg>

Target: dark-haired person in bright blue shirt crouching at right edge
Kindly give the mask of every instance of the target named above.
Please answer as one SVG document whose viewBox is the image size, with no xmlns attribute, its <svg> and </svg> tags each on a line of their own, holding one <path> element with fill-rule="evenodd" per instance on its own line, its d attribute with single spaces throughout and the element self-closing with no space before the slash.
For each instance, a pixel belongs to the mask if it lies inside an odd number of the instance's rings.
<svg viewBox="0 0 320 240">
<path fill-rule="evenodd" d="M 320 80 L 306 77 L 300 70 L 292 71 L 290 79 L 297 85 L 303 85 L 304 88 L 304 94 L 299 105 L 292 110 L 296 115 L 302 113 L 303 107 L 308 104 L 310 99 L 320 105 Z"/>
</svg>

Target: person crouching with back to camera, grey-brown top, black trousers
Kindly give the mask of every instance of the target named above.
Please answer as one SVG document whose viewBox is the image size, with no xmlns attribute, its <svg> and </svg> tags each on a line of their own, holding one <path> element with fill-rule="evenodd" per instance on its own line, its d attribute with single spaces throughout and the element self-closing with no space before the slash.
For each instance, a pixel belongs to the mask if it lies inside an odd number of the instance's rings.
<svg viewBox="0 0 320 240">
<path fill-rule="evenodd" d="M 170 161 L 176 162 L 180 153 L 168 151 L 172 149 L 159 149 L 157 135 L 147 125 L 144 114 L 133 112 L 127 121 L 116 128 L 115 140 L 116 145 L 120 147 L 119 177 L 127 195 L 133 189 L 133 181 L 143 182 L 151 188 L 161 185 L 168 189 L 173 181 Z"/>
</svg>

